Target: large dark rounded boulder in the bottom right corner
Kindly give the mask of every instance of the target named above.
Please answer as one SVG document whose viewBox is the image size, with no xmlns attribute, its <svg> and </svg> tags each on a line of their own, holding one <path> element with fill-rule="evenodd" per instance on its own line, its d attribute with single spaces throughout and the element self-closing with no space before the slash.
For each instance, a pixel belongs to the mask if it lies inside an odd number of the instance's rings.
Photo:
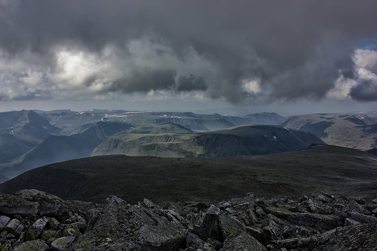
<svg viewBox="0 0 377 251">
<path fill-rule="evenodd" d="M 338 227 L 320 235 L 313 251 L 376 250 L 377 224 L 357 224 Z"/>
</svg>

